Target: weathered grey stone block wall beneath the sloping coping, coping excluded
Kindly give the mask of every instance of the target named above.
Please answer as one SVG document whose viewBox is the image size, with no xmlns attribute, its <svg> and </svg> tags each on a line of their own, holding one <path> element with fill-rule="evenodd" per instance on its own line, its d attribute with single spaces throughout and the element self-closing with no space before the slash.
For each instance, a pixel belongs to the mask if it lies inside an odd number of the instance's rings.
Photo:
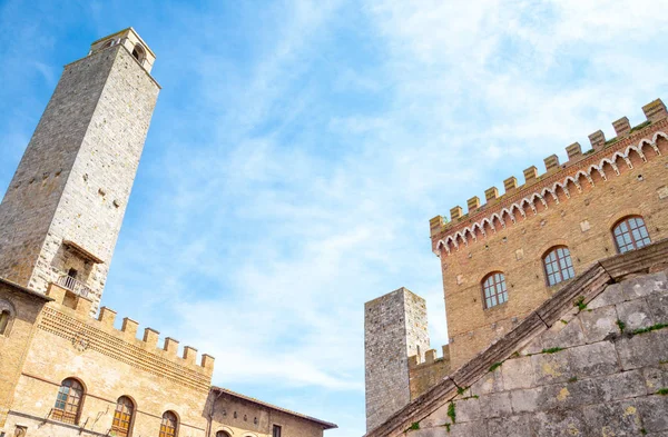
<svg viewBox="0 0 668 437">
<path fill-rule="evenodd" d="M 608 286 L 406 435 L 668 435 L 666 274 Z"/>
</svg>

